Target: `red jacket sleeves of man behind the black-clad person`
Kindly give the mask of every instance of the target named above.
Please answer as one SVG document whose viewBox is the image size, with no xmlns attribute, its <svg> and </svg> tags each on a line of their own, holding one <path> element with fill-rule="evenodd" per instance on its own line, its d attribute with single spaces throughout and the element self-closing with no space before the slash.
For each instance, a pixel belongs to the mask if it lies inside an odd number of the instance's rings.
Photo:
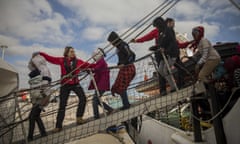
<svg viewBox="0 0 240 144">
<path fill-rule="evenodd" d="M 158 29 L 155 28 L 152 31 L 150 31 L 149 33 L 147 33 L 146 35 L 136 39 L 136 42 L 142 43 L 142 42 L 146 42 L 146 41 L 155 39 L 155 44 L 157 45 L 158 35 L 159 35 Z M 177 44 L 178 44 L 178 48 L 186 48 L 189 45 L 189 42 L 180 43 L 177 40 Z"/>
</svg>

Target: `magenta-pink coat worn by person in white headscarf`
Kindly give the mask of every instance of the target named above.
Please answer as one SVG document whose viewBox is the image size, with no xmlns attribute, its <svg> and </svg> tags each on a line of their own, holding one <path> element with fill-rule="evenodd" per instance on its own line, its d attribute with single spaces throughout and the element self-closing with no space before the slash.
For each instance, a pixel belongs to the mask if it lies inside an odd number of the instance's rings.
<svg viewBox="0 0 240 144">
<path fill-rule="evenodd" d="M 94 67 L 94 79 L 96 81 L 98 90 L 110 90 L 110 72 L 107 69 L 108 65 L 104 58 L 96 62 Z M 89 90 L 95 89 L 93 81 L 89 85 Z"/>
</svg>

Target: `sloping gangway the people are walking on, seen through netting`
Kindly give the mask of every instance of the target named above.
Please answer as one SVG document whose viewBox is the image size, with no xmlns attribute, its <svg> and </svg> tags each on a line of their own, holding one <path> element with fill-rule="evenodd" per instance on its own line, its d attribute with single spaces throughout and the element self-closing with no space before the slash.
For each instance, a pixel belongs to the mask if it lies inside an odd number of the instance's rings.
<svg viewBox="0 0 240 144">
<path fill-rule="evenodd" d="M 193 93 L 194 89 L 194 93 Z M 91 120 L 82 125 L 76 125 L 75 123 L 69 124 L 63 128 L 62 131 L 58 133 L 49 132 L 48 136 L 37 138 L 36 140 L 29 143 L 66 143 L 69 141 L 74 141 L 80 138 L 84 138 L 98 132 L 104 131 L 106 128 L 112 125 L 118 125 L 122 122 L 131 120 L 132 118 L 138 117 L 143 114 L 147 114 L 154 110 L 165 108 L 168 105 L 177 103 L 179 101 L 186 100 L 193 95 L 199 95 L 205 92 L 205 88 L 202 83 L 198 83 L 193 86 L 189 86 L 178 92 L 170 93 L 167 96 L 155 96 L 145 101 L 135 103 L 127 110 L 116 111 L 113 114 L 110 114 L 106 117 L 101 117 L 100 119 Z M 15 141 L 15 143 L 21 143 L 21 141 Z"/>
</svg>

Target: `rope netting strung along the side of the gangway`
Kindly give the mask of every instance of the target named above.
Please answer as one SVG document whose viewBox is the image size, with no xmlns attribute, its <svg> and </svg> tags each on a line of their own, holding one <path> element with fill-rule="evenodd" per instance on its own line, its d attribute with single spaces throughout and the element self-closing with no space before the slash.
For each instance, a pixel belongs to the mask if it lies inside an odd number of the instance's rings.
<svg viewBox="0 0 240 144">
<path fill-rule="evenodd" d="M 155 110 L 166 110 L 169 107 L 176 106 L 178 101 L 185 100 L 192 95 L 193 87 L 190 86 L 178 92 L 169 93 L 167 96 L 161 97 L 158 89 L 158 75 L 156 75 L 154 64 L 155 61 L 151 55 L 147 55 L 146 57 L 137 60 L 134 63 L 136 67 L 136 76 L 127 89 L 131 107 L 127 110 L 120 110 L 119 108 L 122 106 L 120 96 L 114 97 L 110 92 L 106 92 L 101 97 L 101 100 L 108 103 L 115 110 L 114 113 L 105 116 L 103 110 L 100 108 L 99 119 L 93 118 L 92 99 L 95 92 L 87 90 L 91 77 L 90 75 L 85 76 L 85 74 L 83 74 L 80 78 L 84 77 L 84 79 L 82 79 L 80 83 L 87 97 L 87 104 L 83 117 L 86 119 L 86 123 L 82 125 L 76 124 L 76 109 L 79 100 L 77 96 L 70 94 L 63 122 L 63 130 L 58 133 L 52 132 L 52 129 L 55 128 L 56 124 L 58 100 L 56 100 L 57 102 L 52 101 L 44 108 L 44 112 L 41 113 L 41 118 L 44 122 L 48 136 L 40 137 L 40 132 L 36 126 L 34 131 L 34 141 L 31 141 L 31 143 L 65 143 L 74 141 L 104 131 L 109 126 L 121 124 L 122 122 L 131 120 L 142 114 L 149 114 Z M 118 71 L 118 69 L 110 70 L 111 84 L 113 84 L 116 79 Z M 204 90 L 200 88 L 197 93 L 202 93 L 203 91 Z M 57 95 L 58 94 L 56 94 L 56 96 Z M 28 131 L 27 120 L 32 107 L 29 101 L 20 101 L 19 98 L 22 97 L 18 97 L 18 100 L 16 101 L 18 105 L 17 107 L 19 107 L 20 110 L 19 113 L 7 111 L 9 117 L 15 115 L 15 122 L 8 123 L 7 125 L 4 124 L 4 131 L 2 131 L 1 128 L 1 137 L 6 136 L 7 131 L 13 131 L 13 143 L 22 143 L 25 141 L 25 135 Z"/>
</svg>

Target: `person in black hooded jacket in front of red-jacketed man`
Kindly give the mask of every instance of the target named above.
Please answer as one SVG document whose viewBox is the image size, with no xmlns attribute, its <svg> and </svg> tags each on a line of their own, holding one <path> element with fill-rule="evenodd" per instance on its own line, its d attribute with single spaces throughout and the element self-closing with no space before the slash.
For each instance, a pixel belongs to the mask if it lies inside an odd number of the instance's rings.
<svg viewBox="0 0 240 144">
<path fill-rule="evenodd" d="M 158 45 L 151 47 L 150 50 L 160 51 L 160 63 L 159 63 L 159 73 L 164 77 L 168 84 L 171 87 L 170 92 L 174 92 L 177 90 L 175 81 L 173 80 L 173 75 L 169 73 L 167 68 L 167 63 L 170 69 L 173 67 L 176 59 L 179 57 L 179 49 L 176 40 L 175 33 L 172 28 L 168 27 L 166 22 L 162 17 L 157 17 L 153 20 L 153 26 L 158 29 L 159 37 L 158 37 Z M 164 55 L 166 56 L 167 62 L 164 60 Z M 166 95 L 166 91 L 162 91 L 161 95 Z"/>
</svg>

